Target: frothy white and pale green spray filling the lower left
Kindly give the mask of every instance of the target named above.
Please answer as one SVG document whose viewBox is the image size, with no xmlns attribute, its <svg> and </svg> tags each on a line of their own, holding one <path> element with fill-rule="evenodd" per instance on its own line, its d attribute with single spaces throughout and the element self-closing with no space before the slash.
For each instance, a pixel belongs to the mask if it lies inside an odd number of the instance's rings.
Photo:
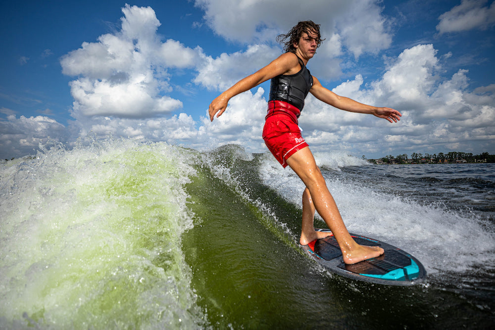
<svg viewBox="0 0 495 330">
<path fill-rule="evenodd" d="M 197 328 L 181 235 L 193 152 L 80 141 L 0 167 L 1 328 Z"/>
</svg>

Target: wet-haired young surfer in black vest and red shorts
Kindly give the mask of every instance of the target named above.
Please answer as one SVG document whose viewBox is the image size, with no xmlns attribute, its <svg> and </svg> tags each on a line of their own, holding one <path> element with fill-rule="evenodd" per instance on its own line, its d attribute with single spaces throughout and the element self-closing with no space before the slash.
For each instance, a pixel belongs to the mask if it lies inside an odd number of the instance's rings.
<svg viewBox="0 0 495 330">
<path fill-rule="evenodd" d="M 271 79 L 263 140 L 280 164 L 284 168 L 290 166 L 306 186 L 302 194 L 302 231 L 299 243 L 306 245 L 314 239 L 331 235 L 314 230 L 316 210 L 337 239 L 346 264 L 378 257 L 384 252 L 381 247 L 359 245 L 349 235 L 313 154 L 301 137 L 297 118 L 308 93 L 336 108 L 372 114 L 391 123 L 400 120 L 401 114 L 391 108 L 366 105 L 339 96 L 324 88 L 316 77 L 311 76 L 306 64 L 322 42 L 318 24 L 312 21 L 299 22 L 288 34 L 278 36 L 277 40 L 285 43 L 286 53 L 216 97 L 208 109 L 210 120 L 213 121 L 215 114 L 216 117 L 222 115 L 230 98 Z"/>
</svg>

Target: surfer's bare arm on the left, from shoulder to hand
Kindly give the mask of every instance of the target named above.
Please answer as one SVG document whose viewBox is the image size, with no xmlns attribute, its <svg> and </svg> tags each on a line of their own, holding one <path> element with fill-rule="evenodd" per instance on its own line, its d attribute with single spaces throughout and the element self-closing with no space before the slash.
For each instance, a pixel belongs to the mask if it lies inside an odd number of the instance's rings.
<svg viewBox="0 0 495 330">
<path fill-rule="evenodd" d="M 292 53 L 285 53 L 274 59 L 267 66 L 259 69 L 255 73 L 247 76 L 246 78 L 238 81 L 234 86 L 218 95 L 211 103 L 208 108 L 208 113 L 210 115 L 210 120 L 213 118 L 220 117 L 222 113 L 227 108 L 229 100 L 236 96 L 237 94 L 244 93 L 251 88 L 258 86 L 259 84 L 272 79 L 278 75 L 289 72 L 292 68 L 299 65 L 297 57 Z"/>
</svg>

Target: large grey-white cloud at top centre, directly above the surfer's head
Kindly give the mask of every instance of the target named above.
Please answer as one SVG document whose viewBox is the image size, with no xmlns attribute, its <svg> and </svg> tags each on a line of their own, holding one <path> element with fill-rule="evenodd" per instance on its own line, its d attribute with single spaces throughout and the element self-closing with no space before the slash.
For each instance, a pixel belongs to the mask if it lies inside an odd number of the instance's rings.
<svg viewBox="0 0 495 330">
<path fill-rule="evenodd" d="M 210 28 L 227 40 L 244 44 L 273 43 L 298 21 L 320 24 L 325 38 L 311 66 L 323 79 L 341 74 L 337 56 L 348 51 L 354 57 L 387 49 L 392 32 L 376 0 L 196 0 L 204 9 Z M 357 23 L 356 23 L 357 22 Z"/>
</svg>

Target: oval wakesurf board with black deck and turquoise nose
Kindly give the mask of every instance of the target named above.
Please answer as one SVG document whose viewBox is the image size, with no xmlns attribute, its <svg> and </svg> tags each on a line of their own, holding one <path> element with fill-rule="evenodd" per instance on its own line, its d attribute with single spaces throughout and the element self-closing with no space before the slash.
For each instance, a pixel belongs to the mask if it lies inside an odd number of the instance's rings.
<svg viewBox="0 0 495 330">
<path fill-rule="evenodd" d="M 318 229 L 320 232 L 330 232 Z M 412 285 L 426 278 L 423 265 L 405 251 L 377 239 L 350 234 L 360 245 L 380 246 L 385 253 L 377 258 L 346 265 L 342 252 L 334 236 L 328 236 L 304 245 L 303 249 L 329 271 L 360 281 L 389 284 Z"/>
</svg>

